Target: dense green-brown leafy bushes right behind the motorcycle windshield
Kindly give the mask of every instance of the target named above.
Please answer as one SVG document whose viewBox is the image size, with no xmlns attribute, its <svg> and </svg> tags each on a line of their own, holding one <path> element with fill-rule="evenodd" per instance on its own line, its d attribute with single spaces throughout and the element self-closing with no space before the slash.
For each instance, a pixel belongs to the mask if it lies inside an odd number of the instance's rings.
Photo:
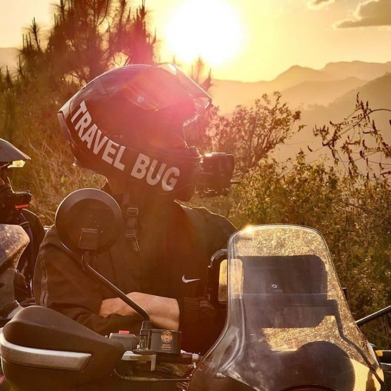
<svg viewBox="0 0 391 391">
<path fill-rule="evenodd" d="M 325 236 L 354 317 L 389 305 L 391 187 L 386 180 L 352 181 L 324 162 L 307 163 L 301 152 L 290 167 L 262 162 L 236 191 L 238 222 L 294 223 Z M 391 317 L 365 330 L 372 342 L 391 346 Z"/>
</svg>

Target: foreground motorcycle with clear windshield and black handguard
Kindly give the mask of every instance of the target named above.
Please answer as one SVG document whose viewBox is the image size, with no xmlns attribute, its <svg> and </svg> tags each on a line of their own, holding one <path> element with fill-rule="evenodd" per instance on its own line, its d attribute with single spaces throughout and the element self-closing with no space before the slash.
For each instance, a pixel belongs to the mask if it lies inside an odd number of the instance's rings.
<svg viewBox="0 0 391 391">
<path fill-rule="evenodd" d="M 89 228 L 74 235 L 87 253 L 93 234 Z M 384 390 L 381 365 L 354 322 L 317 231 L 246 228 L 231 236 L 226 258 L 219 295 L 227 298 L 226 323 L 201 359 L 180 351 L 179 333 L 152 329 L 141 310 L 140 335 L 105 338 L 53 310 L 29 307 L 0 337 L 7 380 L 16 391 Z M 96 276 L 86 259 L 84 269 Z M 182 379 L 162 378 L 156 365 L 165 362 L 194 368 Z"/>
</svg>

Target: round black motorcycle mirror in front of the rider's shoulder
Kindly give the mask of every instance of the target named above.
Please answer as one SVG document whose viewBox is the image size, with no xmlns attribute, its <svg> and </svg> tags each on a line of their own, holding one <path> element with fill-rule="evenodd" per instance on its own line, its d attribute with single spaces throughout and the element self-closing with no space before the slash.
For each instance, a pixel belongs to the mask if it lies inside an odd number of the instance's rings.
<svg viewBox="0 0 391 391">
<path fill-rule="evenodd" d="M 75 190 L 62 200 L 56 211 L 57 235 L 66 248 L 82 253 L 82 230 L 97 231 L 95 253 L 107 251 L 117 241 L 123 224 L 122 213 L 111 195 L 102 190 Z"/>
</svg>

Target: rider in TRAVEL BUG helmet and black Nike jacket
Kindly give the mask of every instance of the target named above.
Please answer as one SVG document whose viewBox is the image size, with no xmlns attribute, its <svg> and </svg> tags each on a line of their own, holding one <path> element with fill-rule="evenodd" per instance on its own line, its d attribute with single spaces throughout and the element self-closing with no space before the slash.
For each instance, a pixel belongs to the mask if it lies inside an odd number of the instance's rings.
<svg viewBox="0 0 391 391">
<path fill-rule="evenodd" d="M 94 268 L 142 305 L 152 323 L 183 332 L 182 346 L 210 347 L 224 319 L 204 297 L 211 255 L 235 227 L 205 208 L 188 208 L 201 155 L 184 127 L 210 105 L 204 90 L 171 64 L 129 65 L 88 83 L 59 111 L 78 166 L 107 178 L 121 206 L 123 234 Z M 36 300 L 102 335 L 137 333 L 141 317 L 83 272 L 55 227 L 39 251 Z"/>
</svg>

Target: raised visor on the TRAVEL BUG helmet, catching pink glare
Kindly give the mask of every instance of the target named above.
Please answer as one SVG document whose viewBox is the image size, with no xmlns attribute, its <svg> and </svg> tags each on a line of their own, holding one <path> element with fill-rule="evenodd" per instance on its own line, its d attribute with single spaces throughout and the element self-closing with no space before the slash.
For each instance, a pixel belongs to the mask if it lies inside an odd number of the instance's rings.
<svg viewBox="0 0 391 391">
<path fill-rule="evenodd" d="M 170 63 L 151 66 L 133 77 L 120 93 L 143 110 L 161 110 L 191 100 L 194 113 L 183 123 L 196 120 L 211 103 L 211 97 L 197 83 Z"/>
</svg>

